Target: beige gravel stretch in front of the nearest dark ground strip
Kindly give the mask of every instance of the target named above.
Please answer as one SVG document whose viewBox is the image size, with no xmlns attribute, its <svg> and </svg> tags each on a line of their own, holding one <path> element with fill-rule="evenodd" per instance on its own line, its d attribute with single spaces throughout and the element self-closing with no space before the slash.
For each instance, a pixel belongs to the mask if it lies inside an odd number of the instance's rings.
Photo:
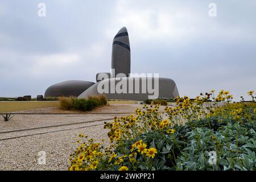
<svg viewBox="0 0 256 182">
<path fill-rule="evenodd" d="M 107 137 L 103 126 L 73 129 L 0 141 L 0 170 L 67 170 L 77 134 L 89 134 L 98 142 Z M 38 152 L 46 152 L 46 164 L 38 164 Z"/>
</svg>

